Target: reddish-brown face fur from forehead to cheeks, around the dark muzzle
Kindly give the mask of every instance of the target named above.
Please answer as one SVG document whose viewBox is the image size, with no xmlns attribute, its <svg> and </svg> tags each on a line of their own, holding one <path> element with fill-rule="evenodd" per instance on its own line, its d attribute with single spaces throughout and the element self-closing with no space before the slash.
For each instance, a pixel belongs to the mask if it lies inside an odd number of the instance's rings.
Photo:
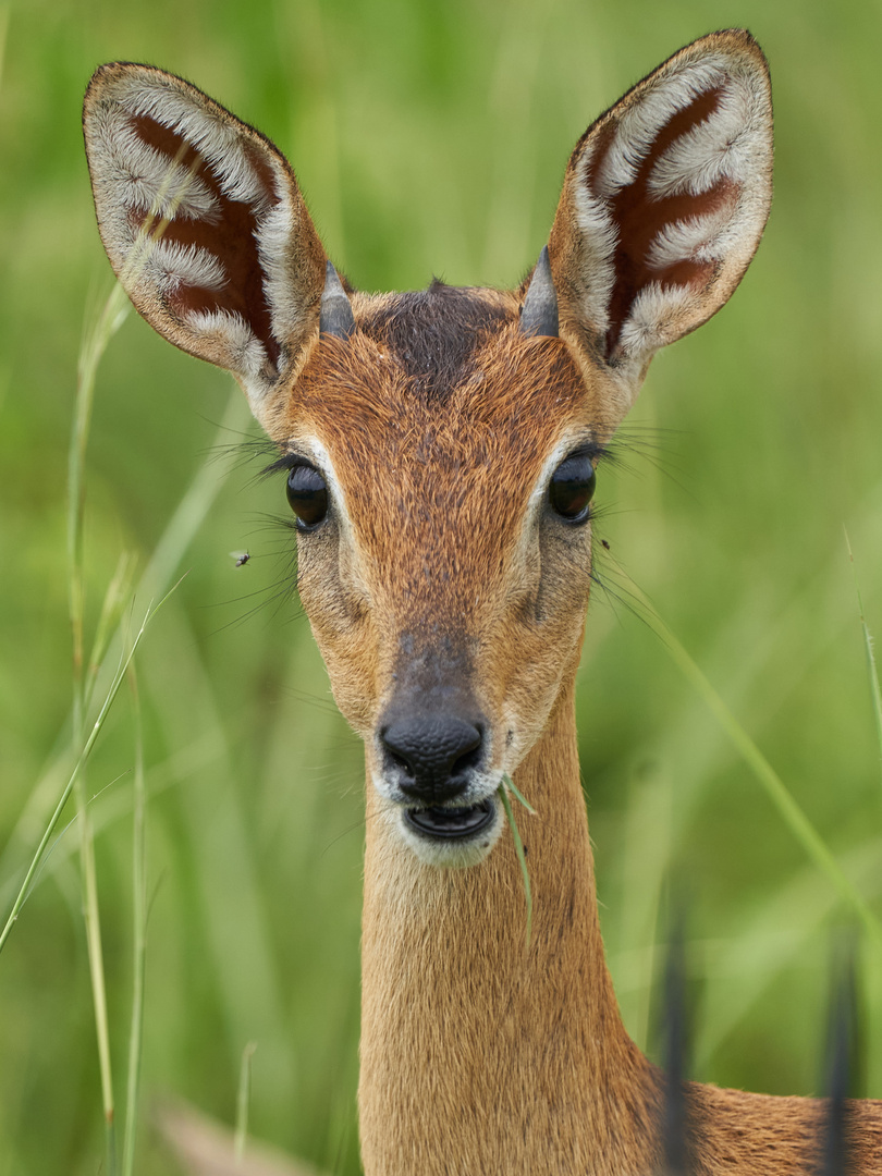
<svg viewBox="0 0 882 1176">
<path fill-rule="evenodd" d="M 434 294 L 440 309 L 452 294 Z M 548 453 L 564 434 L 602 434 L 600 406 L 560 340 L 520 333 L 512 295 L 469 299 L 495 329 L 477 330 L 448 387 L 427 393 L 420 373 L 407 373 L 388 346 L 382 300 L 360 298 L 368 330 L 322 339 L 296 407 L 288 402 L 270 425 L 286 445 L 318 437 L 343 487 L 356 552 L 332 577 L 330 537 L 303 544 L 299 587 L 338 702 L 367 739 L 401 669 L 405 635 L 416 641 L 414 660 L 443 649 L 467 656 L 500 723 L 503 703 L 541 721 L 581 640 L 588 535 L 550 572 L 539 550 L 527 562 L 514 553 Z"/>
</svg>

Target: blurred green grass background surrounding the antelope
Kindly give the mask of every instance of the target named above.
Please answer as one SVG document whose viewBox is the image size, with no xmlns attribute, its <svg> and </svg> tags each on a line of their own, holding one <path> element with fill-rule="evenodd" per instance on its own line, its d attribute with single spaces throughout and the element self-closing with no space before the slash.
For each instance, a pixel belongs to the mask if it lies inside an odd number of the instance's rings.
<svg viewBox="0 0 882 1176">
<path fill-rule="evenodd" d="M 161 65 L 274 139 L 359 287 L 503 286 L 546 240 L 587 123 L 731 25 L 771 64 L 771 220 L 731 305 L 653 366 L 622 462 L 602 472 L 603 567 L 650 596 L 882 910 L 882 771 L 843 539 L 844 526 L 882 633 L 880 5 L 28 0 L 0 5 L 4 915 L 69 768 L 67 445 L 83 327 L 111 288 L 80 135 L 92 71 Z M 146 566 L 230 395 L 134 314 L 113 339 L 88 456 L 91 626 L 119 554 Z M 256 435 L 238 407 L 223 446 Z M 290 535 L 266 516 L 285 517 L 283 487 L 256 483 L 259 463 L 239 456 L 205 466 L 216 500 L 139 654 L 151 914 L 136 1170 L 168 1170 L 154 1100 L 233 1121 L 254 1041 L 254 1132 L 350 1174 L 361 750 L 296 600 L 279 596 Z M 234 549 L 250 552 L 246 567 Z M 690 904 L 694 1075 L 817 1093 L 830 944 L 847 923 L 829 881 L 659 639 L 602 593 L 579 707 L 633 1034 L 652 1044 L 673 873 Z M 88 774 L 120 1107 L 133 756 L 123 693 Z M 0 956 L 0 1176 L 105 1170 L 76 844 L 68 829 Z M 882 1097 L 882 969 L 862 961 L 862 1091 Z"/>
</svg>

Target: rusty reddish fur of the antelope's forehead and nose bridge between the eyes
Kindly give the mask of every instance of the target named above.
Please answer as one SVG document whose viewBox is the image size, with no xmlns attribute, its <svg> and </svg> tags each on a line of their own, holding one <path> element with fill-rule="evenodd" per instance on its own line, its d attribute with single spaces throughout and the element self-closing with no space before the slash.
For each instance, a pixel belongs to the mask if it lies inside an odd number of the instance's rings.
<svg viewBox="0 0 882 1176">
<path fill-rule="evenodd" d="M 556 439 L 572 422 L 593 423 L 566 346 L 526 339 L 514 307 L 479 342 L 473 366 L 465 383 L 426 396 L 382 335 L 329 339 L 282 425 L 283 436 L 315 435 L 333 455 L 366 557 L 395 568 L 399 624 L 430 610 L 472 612 L 476 587 L 507 562 Z M 480 517 L 487 512 L 492 528 Z"/>
</svg>

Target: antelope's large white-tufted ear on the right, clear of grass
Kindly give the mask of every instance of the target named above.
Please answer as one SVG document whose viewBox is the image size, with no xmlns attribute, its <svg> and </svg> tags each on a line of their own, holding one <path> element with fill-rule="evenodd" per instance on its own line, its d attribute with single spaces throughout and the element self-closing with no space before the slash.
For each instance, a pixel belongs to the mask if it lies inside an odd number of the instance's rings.
<svg viewBox="0 0 882 1176">
<path fill-rule="evenodd" d="M 771 94 L 749 33 L 681 49 L 588 128 L 549 240 L 560 333 L 629 407 L 659 347 L 726 302 L 771 200 Z M 613 422 L 610 422 L 613 423 Z"/>
</svg>

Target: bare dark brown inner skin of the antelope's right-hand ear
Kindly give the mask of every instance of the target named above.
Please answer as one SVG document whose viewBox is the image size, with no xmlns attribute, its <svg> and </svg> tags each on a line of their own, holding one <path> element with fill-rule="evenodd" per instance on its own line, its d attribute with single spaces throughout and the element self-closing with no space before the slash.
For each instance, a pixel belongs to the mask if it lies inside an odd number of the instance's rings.
<svg viewBox="0 0 882 1176">
<path fill-rule="evenodd" d="M 720 180 L 700 196 L 689 192 L 656 199 L 649 192 L 649 176 L 656 161 L 681 135 L 706 122 L 716 111 L 722 89 L 716 87 L 700 94 L 689 106 L 677 111 L 653 140 L 634 180 L 620 188 L 609 200 L 609 211 L 616 227 L 616 249 L 613 266 L 616 279 L 609 302 L 609 327 L 606 335 L 606 358 L 612 359 L 619 346 L 622 325 L 628 319 L 640 290 L 650 281 L 662 286 L 707 285 L 715 269 L 713 261 L 689 259 L 659 269 L 649 263 L 649 249 L 664 225 L 691 216 L 716 212 L 737 199 L 739 185 Z M 593 195 L 600 196 L 597 180 L 615 139 L 617 123 L 610 119 L 597 132 L 597 147 L 590 160 L 586 182 Z"/>
</svg>

